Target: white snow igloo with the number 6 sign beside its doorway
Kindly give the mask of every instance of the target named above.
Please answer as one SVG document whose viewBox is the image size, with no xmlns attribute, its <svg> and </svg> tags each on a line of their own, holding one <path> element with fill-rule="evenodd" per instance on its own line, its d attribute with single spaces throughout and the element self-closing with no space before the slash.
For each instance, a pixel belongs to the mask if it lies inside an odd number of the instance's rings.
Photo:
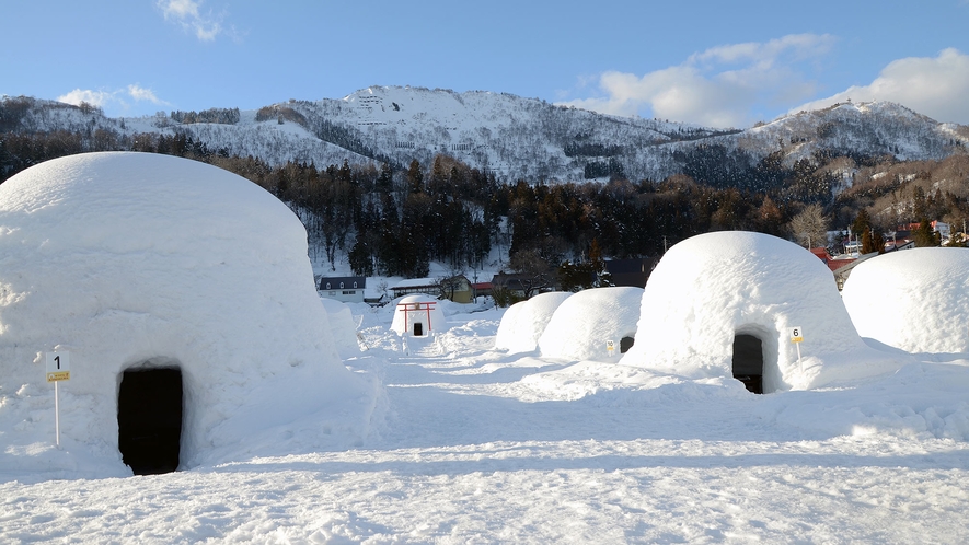
<svg viewBox="0 0 969 545">
<path fill-rule="evenodd" d="M 789 328 L 800 327 L 803 359 Z M 701 234 L 674 245 L 643 293 L 623 364 L 689 378 L 734 376 L 770 393 L 898 368 L 858 336 L 824 264 L 775 236 Z"/>
</svg>

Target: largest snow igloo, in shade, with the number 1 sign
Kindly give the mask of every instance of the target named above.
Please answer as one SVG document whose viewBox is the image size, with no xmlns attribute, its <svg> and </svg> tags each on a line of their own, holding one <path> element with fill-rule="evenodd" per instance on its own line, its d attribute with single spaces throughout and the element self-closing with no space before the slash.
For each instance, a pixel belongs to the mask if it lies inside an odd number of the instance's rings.
<svg viewBox="0 0 969 545">
<path fill-rule="evenodd" d="M 73 461 L 37 454 L 55 442 L 55 349 Z M 0 465 L 161 473 L 277 453 L 295 430 L 351 444 L 376 395 L 337 357 L 305 230 L 252 182 L 115 152 L 0 185 Z"/>
</svg>

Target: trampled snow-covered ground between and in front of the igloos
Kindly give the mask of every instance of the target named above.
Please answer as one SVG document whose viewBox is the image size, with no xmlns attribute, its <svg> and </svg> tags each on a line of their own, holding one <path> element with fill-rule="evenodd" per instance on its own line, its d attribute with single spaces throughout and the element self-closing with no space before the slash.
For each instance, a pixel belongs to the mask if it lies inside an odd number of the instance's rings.
<svg viewBox="0 0 969 545">
<path fill-rule="evenodd" d="M 446 311 L 447 331 L 405 343 L 391 308 L 354 308 L 366 350 L 346 362 L 389 406 L 359 448 L 284 440 L 128 478 L 0 467 L 0 542 L 969 541 L 967 361 L 759 396 L 509 355 L 494 349 L 503 311 Z"/>
</svg>

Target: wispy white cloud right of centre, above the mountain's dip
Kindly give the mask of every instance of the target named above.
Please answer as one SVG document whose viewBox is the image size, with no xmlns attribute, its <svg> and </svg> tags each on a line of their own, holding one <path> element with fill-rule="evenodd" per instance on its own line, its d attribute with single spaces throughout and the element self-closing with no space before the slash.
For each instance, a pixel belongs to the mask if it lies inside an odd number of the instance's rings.
<svg viewBox="0 0 969 545">
<path fill-rule="evenodd" d="M 834 42 L 827 34 L 795 34 L 717 46 L 642 77 L 604 72 L 598 80 L 602 96 L 563 104 L 712 127 L 749 126 L 764 116 L 754 111 L 758 105 L 791 104 L 815 94 L 815 84 L 797 65 L 826 55 Z"/>
</svg>

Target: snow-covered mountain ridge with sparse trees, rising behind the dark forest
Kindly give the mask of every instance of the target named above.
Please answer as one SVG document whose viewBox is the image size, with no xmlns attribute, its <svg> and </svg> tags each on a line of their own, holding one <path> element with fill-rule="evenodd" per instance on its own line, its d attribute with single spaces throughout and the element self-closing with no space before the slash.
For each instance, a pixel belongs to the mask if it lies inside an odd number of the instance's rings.
<svg viewBox="0 0 969 545">
<path fill-rule="evenodd" d="M 498 177 L 530 182 L 612 175 L 658 181 L 715 172 L 717 179 L 707 181 L 713 185 L 742 184 L 734 178 L 769 158 L 785 167 L 819 153 L 938 160 L 965 152 L 969 143 L 969 127 L 888 102 L 842 103 L 743 130 L 603 115 L 505 93 L 409 86 L 371 86 L 339 100 L 291 100 L 257 111 L 214 108 L 140 118 L 108 118 L 90 106 L 24 97 L 5 98 L 2 105 L 0 130 L 9 132 L 182 134 L 209 150 L 253 155 L 272 165 L 325 166 L 346 160 L 406 166 L 416 159 L 426 166 L 442 153 Z"/>
</svg>

